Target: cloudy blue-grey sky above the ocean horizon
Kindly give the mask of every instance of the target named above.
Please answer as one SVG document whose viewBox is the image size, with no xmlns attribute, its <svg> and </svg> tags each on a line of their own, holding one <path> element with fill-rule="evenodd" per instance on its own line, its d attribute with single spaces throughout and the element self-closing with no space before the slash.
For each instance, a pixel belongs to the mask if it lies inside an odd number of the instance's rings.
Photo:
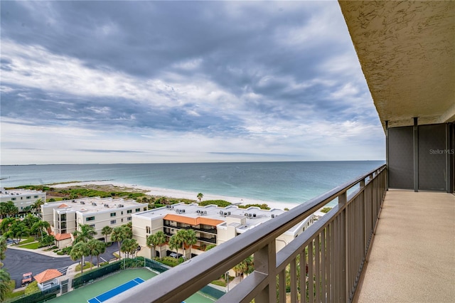
<svg viewBox="0 0 455 303">
<path fill-rule="evenodd" d="M 336 1 L 1 1 L 1 164 L 372 159 Z"/>
</svg>

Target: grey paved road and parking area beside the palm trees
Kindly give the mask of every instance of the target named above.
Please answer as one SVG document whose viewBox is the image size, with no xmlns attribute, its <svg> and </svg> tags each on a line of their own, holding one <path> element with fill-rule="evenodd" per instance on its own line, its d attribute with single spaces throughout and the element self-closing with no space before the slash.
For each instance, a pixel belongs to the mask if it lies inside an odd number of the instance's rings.
<svg viewBox="0 0 455 303">
<path fill-rule="evenodd" d="M 112 252 L 118 250 L 117 243 L 106 248 L 106 252 L 100 255 L 100 262 L 104 260 L 111 260 L 114 255 Z M 90 261 L 90 257 L 87 257 Z M 71 260 L 70 257 L 48 257 L 47 255 L 41 255 L 28 250 L 6 250 L 6 258 L 2 260 L 4 262 L 4 268 L 8 270 L 12 280 L 16 280 L 16 288 L 21 287 L 22 274 L 24 272 L 32 272 L 33 275 L 37 275 L 40 272 L 54 268 L 63 275 L 65 275 L 68 266 L 74 264 L 77 261 Z M 97 258 L 93 257 L 93 264 L 97 264 Z"/>
</svg>

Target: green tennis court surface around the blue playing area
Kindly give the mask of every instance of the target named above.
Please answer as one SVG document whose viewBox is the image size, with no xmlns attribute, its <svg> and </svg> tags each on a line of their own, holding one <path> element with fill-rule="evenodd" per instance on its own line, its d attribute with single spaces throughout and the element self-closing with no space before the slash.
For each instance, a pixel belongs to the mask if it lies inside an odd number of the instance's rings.
<svg viewBox="0 0 455 303">
<path fill-rule="evenodd" d="M 103 292 L 107 292 L 109 289 L 124 284 L 134 278 L 140 277 L 144 280 L 149 280 L 151 277 L 155 277 L 157 274 L 146 268 L 134 268 L 129 270 L 120 270 L 113 275 L 108 275 L 105 278 L 96 280 L 95 282 L 74 289 L 67 294 L 63 294 L 60 297 L 56 297 L 48 302 L 52 303 L 87 303 L 88 299 L 96 297 Z M 185 300 L 186 303 L 211 303 L 215 302 L 215 299 L 209 298 L 200 292 L 193 294 L 191 297 Z"/>
</svg>

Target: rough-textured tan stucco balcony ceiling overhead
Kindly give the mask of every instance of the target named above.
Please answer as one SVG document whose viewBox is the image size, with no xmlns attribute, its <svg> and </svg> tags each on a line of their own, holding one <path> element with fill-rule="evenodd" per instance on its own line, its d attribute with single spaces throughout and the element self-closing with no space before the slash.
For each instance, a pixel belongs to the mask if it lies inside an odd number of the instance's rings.
<svg viewBox="0 0 455 303">
<path fill-rule="evenodd" d="M 382 125 L 455 122 L 455 1 L 339 1 Z"/>
</svg>

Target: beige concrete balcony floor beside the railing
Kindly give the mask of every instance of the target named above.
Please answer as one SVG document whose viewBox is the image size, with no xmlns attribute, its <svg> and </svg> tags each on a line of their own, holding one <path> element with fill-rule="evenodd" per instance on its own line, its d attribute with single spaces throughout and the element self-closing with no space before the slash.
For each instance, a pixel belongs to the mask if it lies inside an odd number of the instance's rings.
<svg viewBox="0 0 455 303">
<path fill-rule="evenodd" d="M 455 196 L 387 191 L 355 302 L 455 302 Z"/>
</svg>

